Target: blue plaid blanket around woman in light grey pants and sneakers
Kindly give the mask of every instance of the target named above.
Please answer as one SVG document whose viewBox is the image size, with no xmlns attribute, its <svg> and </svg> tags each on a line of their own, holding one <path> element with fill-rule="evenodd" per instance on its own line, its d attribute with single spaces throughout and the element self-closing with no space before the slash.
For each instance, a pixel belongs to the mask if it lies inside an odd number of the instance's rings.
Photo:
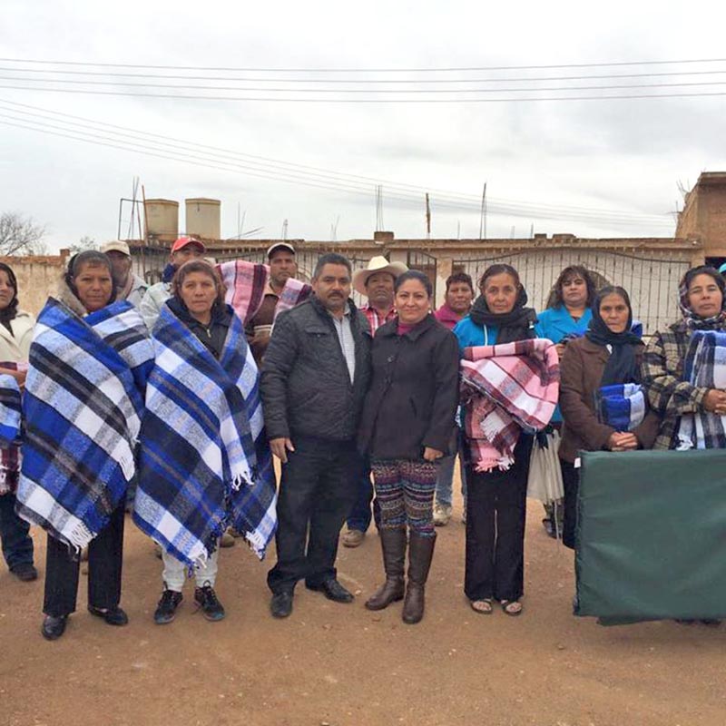
<svg viewBox="0 0 726 726">
<path fill-rule="evenodd" d="M 259 373 L 240 319 L 231 316 L 219 361 L 168 306 L 152 339 L 134 522 L 190 566 L 206 561 L 228 525 L 262 559 L 277 495 Z"/>
</svg>

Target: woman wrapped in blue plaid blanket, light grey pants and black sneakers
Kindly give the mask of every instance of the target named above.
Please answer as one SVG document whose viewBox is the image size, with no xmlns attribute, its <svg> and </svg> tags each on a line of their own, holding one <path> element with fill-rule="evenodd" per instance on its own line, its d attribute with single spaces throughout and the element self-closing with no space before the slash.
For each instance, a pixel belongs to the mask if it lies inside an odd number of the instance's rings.
<svg viewBox="0 0 726 726">
<path fill-rule="evenodd" d="M 225 611 L 214 588 L 221 535 L 233 525 L 261 558 L 277 522 L 257 364 L 205 260 L 174 274 L 152 340 L 133 520 L 162 545 L 154 622 L 172 622 L 190 570 L 197 608 L 220 621 Z"/>
</svg>

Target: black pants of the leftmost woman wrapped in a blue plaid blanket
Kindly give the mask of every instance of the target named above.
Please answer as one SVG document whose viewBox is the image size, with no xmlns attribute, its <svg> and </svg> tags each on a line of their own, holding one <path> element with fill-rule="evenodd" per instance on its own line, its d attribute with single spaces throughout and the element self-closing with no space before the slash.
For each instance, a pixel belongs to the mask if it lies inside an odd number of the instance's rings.
<svg viewBox="0 0 726 726">
<path fill-rule="evenodd" d="M 103 530 L 88 545 L 88 604 L 102 609 L 121 602 L 123 510 L 117 506 Z M 60 617 L 75 612 L 80 562 L 68 547 L 48 536 L 43 612 Z"/>
</svg>

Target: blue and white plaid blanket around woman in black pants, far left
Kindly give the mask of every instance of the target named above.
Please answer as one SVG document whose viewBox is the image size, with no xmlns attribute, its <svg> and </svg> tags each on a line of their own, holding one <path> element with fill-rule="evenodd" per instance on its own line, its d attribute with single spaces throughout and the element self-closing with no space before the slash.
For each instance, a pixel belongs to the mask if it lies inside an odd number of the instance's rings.
<svg viewBox="0 0 726 726">
<path fill-rule="evenodd" d="M 81 318 L 48 299 L 25 380 L 17 511 L 75 549 L 108 523 L 135 473 L 153 350 L 128 302 Z"/>
</svg>

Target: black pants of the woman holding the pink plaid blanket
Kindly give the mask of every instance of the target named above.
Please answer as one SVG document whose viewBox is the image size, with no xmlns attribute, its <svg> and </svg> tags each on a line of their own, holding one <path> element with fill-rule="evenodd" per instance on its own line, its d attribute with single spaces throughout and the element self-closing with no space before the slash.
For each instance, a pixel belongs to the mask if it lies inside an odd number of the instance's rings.
<svg viewBox="0 0 726 726">
<path fill-rule="evenodd" d="M 525 587 L 525 517 L 532 437 L 520 435 L 515 463 L 466 475 L 466 574 L 469 600 L 517 600 Z"/>
</svg>

